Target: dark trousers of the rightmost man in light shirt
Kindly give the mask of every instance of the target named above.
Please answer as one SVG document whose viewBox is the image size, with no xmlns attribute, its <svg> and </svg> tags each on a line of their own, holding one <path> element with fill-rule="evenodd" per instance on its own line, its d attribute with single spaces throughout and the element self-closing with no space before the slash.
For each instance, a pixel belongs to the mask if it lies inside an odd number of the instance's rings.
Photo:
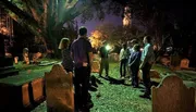
<svg viewBox="0 0 196 112">
<path fill-rule="evenodd" d="M 146 63 L 143 67 L 143 83 L 144 83 L 144 86 L 145 86 L 145 95 L 149 96 L 150 95 L 150 87 L 151 87 L 151 84 L 150 84 L 150 69 L 151 69 L 151 64 L 149 63 Z"/>
</svg>

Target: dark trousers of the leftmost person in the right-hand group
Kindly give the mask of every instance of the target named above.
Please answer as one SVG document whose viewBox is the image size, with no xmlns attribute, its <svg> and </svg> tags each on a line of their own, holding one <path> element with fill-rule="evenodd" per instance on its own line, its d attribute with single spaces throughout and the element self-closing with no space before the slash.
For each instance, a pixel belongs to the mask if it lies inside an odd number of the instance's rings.
<svg viewBox="0 0 196 112">
<path fill-rule="evenodd" d="M 126 63 L 127 63 L 127 59 L 122 59 L 121 62 L 120 62 L 121 77 L 126 75 Z"/>
</svg>

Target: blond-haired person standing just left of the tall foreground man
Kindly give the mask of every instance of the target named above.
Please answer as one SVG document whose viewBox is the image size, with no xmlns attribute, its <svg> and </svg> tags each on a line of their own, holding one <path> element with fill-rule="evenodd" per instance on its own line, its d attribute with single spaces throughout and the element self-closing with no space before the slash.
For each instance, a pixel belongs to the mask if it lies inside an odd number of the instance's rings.
<svg viewBox="0 0 196 112">
<path fill-rule="evenodd" d="M 62 63 L 61 64 L 68 73 L 69 72 L 73 73 L 74 63 L 73 63 L 73 59 L 71 57 L 69 45 L 70 45 L 69 38 L 62 38 L 59 43 L 59 49 L 61 49 L 61 53 L 62 53 Z"/>
</svg>

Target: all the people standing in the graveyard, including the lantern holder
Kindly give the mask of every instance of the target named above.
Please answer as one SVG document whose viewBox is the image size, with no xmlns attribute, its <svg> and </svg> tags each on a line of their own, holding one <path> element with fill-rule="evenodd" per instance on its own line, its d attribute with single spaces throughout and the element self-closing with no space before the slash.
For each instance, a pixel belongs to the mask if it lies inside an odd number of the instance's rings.
<svg viewBox="0 0 196 112">
<path fill-rule="evenodd" d="M 78 38 L 70 43 L 69 38 L 62 38 L 59 49 L 62 51 L 62 66 L 66 72 L 74 73 L 74 89 L 75 89 L 75 109 L 82 112 L 89 109 L 89 78 L 90 66 L 93 63 L 93 47 L 87 38 L 87 28 L 82 26 L 78 29 Z M 123 45 L 120 51 L 120 75 L 123 78 L 126 74 L 126 65 L 132 73 L 132 85 L 138 87 L 138 71 L 143 71 L 143 82 L 146 87 L 145 94 L 140 97 L 148 98 L 150 95 L 150 77 L 149 71 L 154 63 L 154 49 L 150 43 L 150 37 L 144 37 L 144 50 L 140 52 L 140 47 L 137 40 L 132 40 Z M 71 46 L 70 46 L 71 45 Z M 103 69 L 106 77 L 109 76 L 109 50 L 106 49 L 107 42 L 100 48 L 100 71 L 101 76 Z M 128 64 L 127 64 L 128 63 Z M 123 71 L 124 70 L 124 71 Z"/>
</svg>

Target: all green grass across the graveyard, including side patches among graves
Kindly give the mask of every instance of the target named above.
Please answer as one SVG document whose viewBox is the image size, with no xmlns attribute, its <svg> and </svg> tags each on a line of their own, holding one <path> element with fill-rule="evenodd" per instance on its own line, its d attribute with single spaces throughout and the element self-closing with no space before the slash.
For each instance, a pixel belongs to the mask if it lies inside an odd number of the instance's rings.
<svg viewBox="0 0 196 112">
<path fill-rule="evenodd" d="M 51 65 L 25 66 L 19 64 L 16 67 L 21 70 L 20 75 L 27 75 L 26 79 L 44 76 L 45 72 L 51 70 Z M 164 75 L 175 74 L 173 71 L 159 64 L 154 65 L 152 69 Z M 125 78 L 124 82 L 121 80 L 119 78 L 120 73 L 118 63 L 110 63 L 110 79 L 105 78 L 105 72 L 102 74 L 103 77 L 99 77 L 97 73 L 93 73 L 91 75 L 95 76 L 99 83 L 97 83 L 97 89 L 90 91 L 91 100 L 94 102 L 90 112 L 151 112 L 151 100 L 138 97 L 143 94 L 142 90 L 144 89 L 144 86 L 140 85 L 142 88 L 133 88 L 130 86 L 131 82 L 128 78 Z M 184 75 L 179 76 L 185 80 L 189 78 Z M 47 112 L 46 101 L 32 112 Z"/>
</svg>

